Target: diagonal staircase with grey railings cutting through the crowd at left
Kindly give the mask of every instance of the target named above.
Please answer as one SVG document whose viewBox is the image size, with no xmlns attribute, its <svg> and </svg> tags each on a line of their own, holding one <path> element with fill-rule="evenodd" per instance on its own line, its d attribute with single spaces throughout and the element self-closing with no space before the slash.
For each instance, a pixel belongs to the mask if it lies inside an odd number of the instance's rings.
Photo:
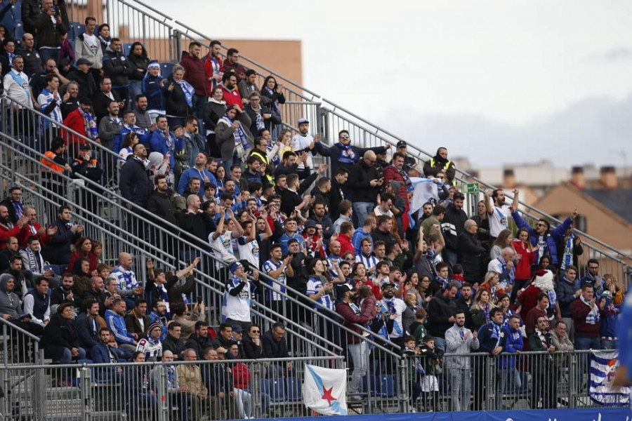
<svg viewBox="0 0 632 421">
<path fill-rule="evenodd" d="M 5 115 L 13 115 L 13 102 L 4 98 L 0 102 L 0 109 Z M 31 110 L 34 121 L 48 119 L 47 116 L 35 110 Z M 42 221 L 54 220 L 58 206 L 67 203 L 72 206 L 78 221 L 86 229 L 84 234 L 103 244 L 101 260 L 115 262 L 118 253 L 132 250 L 135 259 L 133 270 L 139 279 L 145 278 L 146 259 L 152 259 L 158 266 L 165 269 L 175 269 L 177 265 L 186 265 L 196 256 L 202 257 L 202 263 L 196 274 L 197 295 L 202 296 L 204 302 L 211 304 L 209 309 L 209 321 L 217 325 L 221 320 L 220 302 L 225 292 L 225 268 L 226 263 L 212 253 L 208 244 L 200 243 L 199 239 L 190 233 L 183 231 L 169 222 L 156 222 L 154 218 L 133 203 L 126 201 L 112 188 L 103 189 L 91 180 L 81 178 L 74 179 L 68 175 L 58 175 L 56 189 L 47 187 L 47 173 L 41 164 L 44 155 L 25 145 L 23 140 L 13 137 L 13 128 L 0 131 L 0 145 L 2 156 L 0 159 L 0 181 L 4 185 L 17 185 L 22 188 L 23 201 L 37 208 Z M 5 133 L 5 132 L 10 133 Z M 28 130 L 18 130 L 29 133 Z M 79 133 L 74 133 L 84 142 L 89 142 L 96 150 L 98 156 L 105 159 L 112 157 L 103 146 L 84 138 Z M 70 153 L 66 152 L 70 159 Z M 25 175 L 26 174 L 26 175 Z M 86 194 L 92 197 L 86 197 Z M 96 201 L 96 206 L 86 206 L 86 203 Z M 129 205 L 128 208 L 126 205 Z M 142 226 L 141 226 L 142 225 Z M 131 233 L 143 233 L 133 235 Z M 167 247 L 166 244 L 176 244 L 176 247 Z M 177 250 L 177 253 L 173 253 Z M 289 332 L 289 342 L 293 345 L 295 355 L 331 355 L 341 354 L 343 343 L 338 335 L 349 333 L 358 338 L 367 340 L 371 347 L 378 349 L 392 358 L 397 354 L 383 346 L 378 338 L 367 339 L 371 332 L 365 328 L 364 335 L 355 333 L 344 326 L 338 326 L 335 314 L 317 302 L 306 298 L 298 291 L 281 285 L 276 279 L 272 279 L 263 272 L 256 271 L 259 282 L 257 288 L 263 291 L 258 295 L 261 300 L 254 300 L 254 318 L 261 320 L 264 326 L 270 326 L 276 321 L 284 321 Z M 282 292 L 287 288 L 287 292 Z M 270 309 L 270 302 L 265 297 L 276 293 L 282 297 L 282 307 L 277 312 Z M 336 326 L 336 331 L 341 330 L 335 337 L 324 338 L 317 335 L 315 330 L 322 323 L 327 326 Z M 396 348 L 397 349 L 397 348 Z"/>
</svg>

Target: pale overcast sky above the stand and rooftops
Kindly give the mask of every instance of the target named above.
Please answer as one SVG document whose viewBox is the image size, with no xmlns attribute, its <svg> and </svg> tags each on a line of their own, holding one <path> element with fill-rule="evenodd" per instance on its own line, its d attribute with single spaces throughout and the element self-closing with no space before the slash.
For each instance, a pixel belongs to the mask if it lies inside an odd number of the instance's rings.
<svg viewBox="0 0 632 421">
<path fill-rule="evenodd" d="M 629 1 L 152 5 L 211 37 L 300 39 L 306 88 L 428 151 L 632 164 Z"/>
</svg>

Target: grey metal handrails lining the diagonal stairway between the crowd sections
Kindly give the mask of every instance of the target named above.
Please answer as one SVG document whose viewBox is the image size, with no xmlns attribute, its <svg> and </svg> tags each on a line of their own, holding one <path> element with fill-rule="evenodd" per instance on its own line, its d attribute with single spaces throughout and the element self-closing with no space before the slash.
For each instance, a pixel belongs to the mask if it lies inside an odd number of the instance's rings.
<svg viewBox="0 0 632 421">
<path fill-rule="evenodd" d="M 32 112 L 39 119 L 48 119 L 39 112 Z M 169 222 L 161 221 L 158 225 L 157 221 L 150 219 L 143 208 L 126 201 L 111 189 L 103 189 L 102 186 L 91 180 L 81 178 L 77 182 L 67 175 L 57 175 L 58 191 L 53 192 L 46 188 L 46 178 L 41 171 L 40 159 L 43 156 L 22 142 L 14 142 L 13 138 L 4 133 L 0 132 L 0 138 L 7 145 L 4 149 L 6 163 L 2 167 L 6 182 L 15 181 L 17 185 L 23 187 L 25 196 L 36 196 L 39 200 L 38 208 L 44 215 L 44 220 L 55 219 L 56 209 L 60 203 L 72 204 L 80 215 L 84 214 L 86 225 L 90 227 L 85 234 L 93 236 L 103 243 L 101 258 L 104 261 L 110 263 L 116 261 L 117 255 L 121 251 L 120 243 L 132 250 L 140 251 L 147 258 L 164 262 L 166 268 L 172 268 L 173 262 L 187 264 L 195 256 L 203 256 L 202 266 L 197 272 L 202 278 L 202 281 L 198 281 L 198 293 L 202 294 L 205 302 L 211 305 L 210 319 L 217 321 L 217 323 L 221 320 L 219 303 L 224 293 L 225 282 L 221 280 L 225 277 L 225 269 L 222 272 L 219 267 L 225 268 L 227 264 L 211 252 L 208 244 L 200 243 L 199 239 L 192 237 L 190 233 L 183 231 L 180 227 L 169 224 Z M 80 135 L 79 138 L 84 139 Z M 97 151 L 104 149 L 102 145 L 96 143 L 92 146 Z M 29 176 L 22 175 L 23 173 L 27 173 Z M 32 188 L 35 187 L 41 193 L 34 192 Z M 73 192 L 82 192 L 83 194 L 74 194 Z M 88 194 L 87 197 L 86 193 Z M 68 199 L 73 196 L 74 199 Z M 88 209 L 86 203 L 96 203 L 96 206 L 93 204 L 91 209 Z M 126 203 L 131 205 L 131 209 L 125 206 Z M 138 218 L 138 215 L 143 215 L 147 219 Z M 94 218 L 96 222 L 88 220 L 90 218 Z M 129 235 L 140 232 L 143 232 L 140 237 Z M 109 240 L 112 233 L 116 233 L 115 241 Z M 178 253 L 175 253 L 176 250 Z M 137 274 L 142 274 L 141 278 L 145 279 L 143 261 L 136 259 L 133 269 Z M 294 328 L 301 332 L 303 337 L 310 338 L 308 342 L 323 342 L 332 351 L 340 351 L 338 344 L 341 342 L 336 340 L 337 338 L 323 338 L 314 332 L 317 323 L 320 323 L 320 326 L 335 326 L 338 323 L 333 312 L 317 311 L 319 307 L 322 307 L 320 304 L 309 300 L 291 288 L 292 294 L 278 293 L 279 288 L 275 288 L 278 281 L 270 279 L 263 272 L 258 272 L 258 274 L 260 279 L 268 281 L 268 283 L 265 281 L 259 283 L 259 287 L 265 291 L 264 295 L 276 293 L 282 296 L 282 307 L 279 309 L 284 311 L 282 314 L 273 311 L 270 309 L 270 302 L 266 300 L 255 301 L 255 310 L 263 316 L 264 321 L 274 323 L 287 318 L 288 323 L 294 323 Z M 321 309 L 324 310 L 324 308 Z M 306 323 L 299 324 L 296 321 Z M 300 344 L 301 342 L 298 341 L 297 346 Z M 380 345 L 376 344 L 376 346 Z"/>
</svg>

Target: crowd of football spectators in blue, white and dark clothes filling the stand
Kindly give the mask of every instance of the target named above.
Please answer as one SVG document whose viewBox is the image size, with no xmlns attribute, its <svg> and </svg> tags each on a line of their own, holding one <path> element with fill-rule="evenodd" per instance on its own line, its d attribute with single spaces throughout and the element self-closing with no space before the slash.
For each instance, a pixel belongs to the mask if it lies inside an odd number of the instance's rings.
<svg viewBox="0 0 632 421">
<path fill-rule="evenodd" d="M 62 192 L 60 173 L 103 185 L 110 181 L 103 168 L 119 168 L 129 208 L 133 203 L 153 221 L 177 225 L 228 269 L 216 272 L 225 281 L 223 323 L 209 329 L 206 306 L 192 294 L 199 258 L 175 274 L 147 262 L 147 279 L 137 279 L 130 253 L 121 253 L 115 267 L 101 261 L 100 244 L 82 236 L 69 207 L 42 227 L 37 210 L 22 204 L 21 190 L 12 187 L 0 203 L 0 316 L 43 335 L 47 358 L 287 358 L 281 321 L 288 318 L 345 349 L 353 363 L 350 399 L 367 392 L 362 377 L 371 349 L 362 338 L 370 334 L 418 361 L 411 396 L 423 394 L 424 408 L 433 410 L 445 353 L 616 346 L 625 291 L 600 274 L 598 260 L 588 260 L 588 273 L 579 278 L 577 210 L 558 227 L 546 219 L 531 227 L 518 213 L 518 190 L 510 205 L 496 189 L 467 215 L 445 147 L 422 163 L 407 154 L 406 142 L 390 154 L 390 145 L 353 145 L 345 130 L 327 146 L 305 118 L 287 122 L 298 127 L 293 136 L 283 128 L 282 85 L 268 76 L 256 86 L 258 74 L 239 63 L 234 48 L 221 60 L 213 41 L 202 57 L 194 41 L 172 74 L 162 75 L 143 44 L 124 55 L 121 41 L 94 18 L 86 18 L 74 50 L 66 48 L 64 16 L 62 2 L 53 0 L 22 11 L 22 48 L 15 51 L 6 34 L 3 41 L 4 94 L 49 116 L 45 124 L 63 124 L 100 143 L 118 161 L 100 162 L 91 145 L 60 128 L 41 138 L 51 189 Z M 16 127 L 27 119 L 18 109 Z M 72 162 L 63 157 L 66 147 Z M 317 165 L 316 156 L 328 157 L 331 168 Z M 518 232 L 510 230 L 510 219 Z M 166 244 L 176 253 L 177 243 Z M 55 275 L 49 263 L 67 272 Z M 279 317 L 263 335 L 253 300 Z M 327 317 L 312 318 L 297 301 Z M 468 357 L 449 361 L 454 410 L 470 406 L 470 379 L 479 409 L 485 370 Z M 515 381 L 516 359 L 498 361 L 503 390 Z M 239 415 L 248 417 L 248 376 L 234 368 L 233 398 Z M 534 408 L 540 399 L 544 407 L 555 405 L 554 396 L 541 393 L 555 389 L 548 368 L 537 365 L 532 373 Z M 277 369 L 293 370 L 291 363 Z M 178 366 L 178 376 L 199 377 L 189 370 L 195 368 Z M 203 374 L 204 387 L 192 396 L 223 399 L 226 389 L 213 383 L 223 380 Z"/>
</svg>

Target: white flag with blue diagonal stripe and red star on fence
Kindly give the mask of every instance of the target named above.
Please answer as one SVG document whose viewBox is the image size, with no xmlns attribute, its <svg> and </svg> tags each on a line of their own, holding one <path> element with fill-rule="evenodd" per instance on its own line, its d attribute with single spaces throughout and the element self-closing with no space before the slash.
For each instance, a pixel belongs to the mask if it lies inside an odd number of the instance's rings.
<svg viewBox="0 0 632 421">
<path fill-rule="evenodd" d="M 347 370 L 305 364 L 303 401 L 322 415 L 347 415 Z"/>
</svg>

